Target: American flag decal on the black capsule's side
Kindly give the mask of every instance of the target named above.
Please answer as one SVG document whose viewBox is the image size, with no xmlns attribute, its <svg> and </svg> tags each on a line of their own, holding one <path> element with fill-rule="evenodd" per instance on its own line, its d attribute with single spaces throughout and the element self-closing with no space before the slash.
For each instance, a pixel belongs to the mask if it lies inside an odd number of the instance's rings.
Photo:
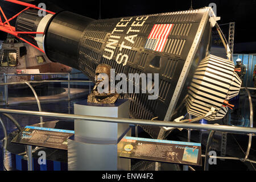
<svg viewBox="0 0 256 182">
<path fill-rule="evenodd" d="M 173 26 L 174 24 L 154 24 L 144 48 L 163 52 L 167 37 Z"/>
</svg>

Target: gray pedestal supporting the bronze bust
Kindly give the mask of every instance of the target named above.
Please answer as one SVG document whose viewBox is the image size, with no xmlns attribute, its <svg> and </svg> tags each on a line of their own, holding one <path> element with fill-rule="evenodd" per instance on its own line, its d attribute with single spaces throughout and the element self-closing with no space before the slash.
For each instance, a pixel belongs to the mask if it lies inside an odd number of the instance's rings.
<svg viewBox="0 0 256 182">
<path fill-rule="evenodd" d="M 75 114 L 100 117 L 129 117 L 129 101 L 115 104 L 74 105 Z M 68 139 L 68 170 L 130 170 L 130 159 L 118 158 L 117 144 L 130 136 L 127 124 L 75 120 L 75 135 Z"/>
</svg>

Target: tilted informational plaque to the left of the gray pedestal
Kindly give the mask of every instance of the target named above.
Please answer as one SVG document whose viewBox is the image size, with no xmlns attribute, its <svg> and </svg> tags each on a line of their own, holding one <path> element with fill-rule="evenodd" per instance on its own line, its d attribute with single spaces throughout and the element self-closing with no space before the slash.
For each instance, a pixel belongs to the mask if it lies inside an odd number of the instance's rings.
<svg viewBox="0 0 256 182">
<path fill-rule="evenodd" d="M 71 130 L 26 126 L 11 142 L 68 150 L 67 140 L 73 134 Z"/>
</svg>

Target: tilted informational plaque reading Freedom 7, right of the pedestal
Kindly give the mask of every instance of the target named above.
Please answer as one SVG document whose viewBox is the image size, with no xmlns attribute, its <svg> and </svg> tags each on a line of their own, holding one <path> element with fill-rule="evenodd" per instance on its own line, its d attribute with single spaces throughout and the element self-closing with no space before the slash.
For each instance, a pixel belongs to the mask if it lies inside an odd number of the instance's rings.
<svg viewBox="0 0 256 182">
<path fill-rule="evenodd" d="M 202 166 L 201 143 L 124 137 L 118 143 L 118 155 L 123 158 Z"/>
</svg>

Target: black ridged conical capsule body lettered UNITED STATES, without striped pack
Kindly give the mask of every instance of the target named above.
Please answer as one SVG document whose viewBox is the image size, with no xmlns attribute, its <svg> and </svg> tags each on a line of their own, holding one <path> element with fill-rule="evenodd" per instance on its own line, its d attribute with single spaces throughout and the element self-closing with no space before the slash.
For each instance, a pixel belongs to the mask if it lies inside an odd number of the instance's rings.
<svg viewBox="0 0 256 182">
<path fill-rule="evenodd" d="M 142 93 L 125 94 L 123 97 L 131 100 L 131 118 L 158 117 L 158 120 L 171 121 L 186 112 L 179 109 L 174 114 L 187 95 L 197 65 L 209 55 L 210 16 L 209 7 L 100 20 L 61 11 L 53 15 L 47 24 L 44 49 L 50 60 L 80 69 L 90 80 L 94 80 L 94 71 L 101 63 L 109 64 L 116 73 L 127 76 L 128 73 L 159 73 L 157 100 L 148 100 L 147 94 Z M 145 48 L 155 24 L 173 24 L 162 51 Z M 114 28 L 119 31 L 113 31 Z M 129 31 L 129 28 L 134 31 Z M 136 36 L 129 42 L 125 38 L 130 35 Z M 116 42 L 112 44 L 113 39 Z M 120 51 L 122 43 L 127 47 Z M 113 57 L 109 49 L 114 52 Z M 120 53 L 129 57 L 124 66 L 125 59 L 121 64 L 115 61 Z M 153 131 L 151 127 L 142 127 L 153 138 L 157 137 L 159 128 Z"/>
</svg>

